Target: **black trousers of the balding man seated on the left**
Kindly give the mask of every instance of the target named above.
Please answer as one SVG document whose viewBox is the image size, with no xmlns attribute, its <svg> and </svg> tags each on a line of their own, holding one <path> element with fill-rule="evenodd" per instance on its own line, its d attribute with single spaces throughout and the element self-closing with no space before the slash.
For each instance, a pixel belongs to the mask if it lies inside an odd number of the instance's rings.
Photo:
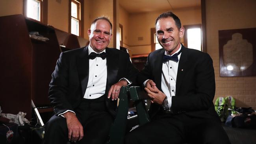
<svg viewBox="0 0 256 144">
<path fill-rule="evenodd" d="M 78 144 L 104 144 L 108 140 L 112 116 L 107 112 L 104 96 L 89 100 L 83 99 L 75 110 L 76 116 L 83 126 L 83 138 Z M 66 119 L 52 116 L 45 125 L 43 144 L 66 144 L 68 129 Z"/>
</svg>

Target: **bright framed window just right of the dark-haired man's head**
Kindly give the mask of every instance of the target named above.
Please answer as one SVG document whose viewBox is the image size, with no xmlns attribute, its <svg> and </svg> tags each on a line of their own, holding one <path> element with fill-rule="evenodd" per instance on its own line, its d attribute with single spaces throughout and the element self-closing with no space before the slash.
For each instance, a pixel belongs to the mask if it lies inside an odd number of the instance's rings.
<svg viewBox="0 0 256 144">
<path fill-rule="evenodd" d="M 184 43 L 187 48 L 193 48 L 202 51 L 202 28 L 201 24 L 186 25 L 184 34 Z"/>
</svg>

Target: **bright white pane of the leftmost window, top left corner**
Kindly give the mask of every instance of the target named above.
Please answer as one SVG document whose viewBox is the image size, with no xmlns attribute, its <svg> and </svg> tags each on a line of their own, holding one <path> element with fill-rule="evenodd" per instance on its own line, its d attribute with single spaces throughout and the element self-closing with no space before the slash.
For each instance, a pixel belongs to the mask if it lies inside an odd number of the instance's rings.
<svg viewBox="0 0 256 144">
<path fill-rule="evenodd" d="M 27 16 L 40 21 L 40 2 L 37 0 L 28 0 Z"/>
</svg>

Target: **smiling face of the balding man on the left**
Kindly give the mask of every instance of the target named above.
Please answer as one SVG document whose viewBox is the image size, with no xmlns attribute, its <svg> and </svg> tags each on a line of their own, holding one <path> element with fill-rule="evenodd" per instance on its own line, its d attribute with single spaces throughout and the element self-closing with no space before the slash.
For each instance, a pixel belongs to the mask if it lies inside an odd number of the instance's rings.
<svg viewBox="0 0 256 144">
<path fill-rule="evenodd" d="M 95 52 L 102 52 L 108 46 L 112 37 L 111 26 L 108 21 L 100 19 L 88 30 L 90 46 Z"/>
</svg>

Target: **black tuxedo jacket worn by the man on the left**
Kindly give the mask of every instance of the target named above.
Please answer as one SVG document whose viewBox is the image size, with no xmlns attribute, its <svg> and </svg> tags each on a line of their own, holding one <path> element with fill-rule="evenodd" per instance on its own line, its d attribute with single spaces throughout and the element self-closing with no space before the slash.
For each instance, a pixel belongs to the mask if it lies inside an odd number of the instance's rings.
<svg viewBox="0 0 256 144">
<path fill-rule="evenodd" d="M 132 66 L 127 53 L 115 48 L 106 48 L 106 54 L 106 106 L 109 113 L 115 116 L 117 100 L 108 99 L 108 91 L 111 85 L 117 83 L 121 78 L 135 81 L 137 69 Z M 49 98 L 56 115 L 67 110 L 75 111 L 85 94 L 88 77 L 88 46 L 60 54 L 49 85 Z"/>
</svg>

